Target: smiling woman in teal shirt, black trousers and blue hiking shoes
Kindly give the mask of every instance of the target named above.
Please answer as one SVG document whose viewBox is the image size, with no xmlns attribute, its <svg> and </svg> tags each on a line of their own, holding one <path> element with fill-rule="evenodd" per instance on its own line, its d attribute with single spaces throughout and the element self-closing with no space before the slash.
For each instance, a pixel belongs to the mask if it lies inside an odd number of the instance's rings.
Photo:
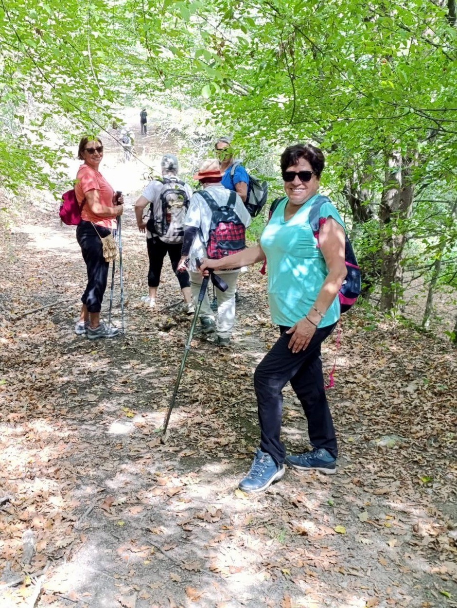
<svg viewBox="0 0 457 608">
<path fill-rule="evenodd" d="M 265 227 L 260 243 L 222 260 L 204 260 L 201 271 L 268 264 L 268 296 L 280 337 L 254 373 L 260 446 L 244 492 L 260 492 L 283 477 L 284 463 L 302 471 L 335 472 L 337 441 L 324 390 L 320 346 L 340 316 L 338 291 L 346 277 L 345 226 L 330 202 L 320 206 L 319 239 L 309 223 L 317 201 L 324 155 L 297 144 L 281 155 L 286 197 Z M 290 381 L 308 420 L 312 451 L 286 456 L 281 443 L 282 390 Z"/>
</svg>

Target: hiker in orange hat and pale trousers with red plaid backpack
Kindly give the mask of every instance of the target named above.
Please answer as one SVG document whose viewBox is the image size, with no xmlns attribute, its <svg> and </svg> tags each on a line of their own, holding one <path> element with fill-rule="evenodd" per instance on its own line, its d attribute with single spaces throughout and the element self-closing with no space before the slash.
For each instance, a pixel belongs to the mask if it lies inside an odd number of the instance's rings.
<svg viewBox="0 0 457 608">
<path fill-rule="evenodd" d="M 245 232 L 251 218 L 241 198 L 222 185 L 219 161 L 204 161 L 194 179 L 201 182 L 203 190 L 194 192 L 190 200 L 178 270 L 187 268 L 190 263 L 191 288 L 196 300 L 202 284 L 202 275 L 198 272 L 195 258 L 211 256 L 231 260 L 232 254 L 246 247 Z M 216 330 L 215 344 L 222 347 L 230 344 L 235 325 L 235 291 L 239 265 L 228 262 L 224 269 L 226 272 L 221 273 L 221 278 L 227 283 L 228 289 L 222 292 L 216 288 L 217 323 L 211 311 L 208 294 L 205 294 L 200 314 L 202 332 L 210 334 Z"/>
</svg>

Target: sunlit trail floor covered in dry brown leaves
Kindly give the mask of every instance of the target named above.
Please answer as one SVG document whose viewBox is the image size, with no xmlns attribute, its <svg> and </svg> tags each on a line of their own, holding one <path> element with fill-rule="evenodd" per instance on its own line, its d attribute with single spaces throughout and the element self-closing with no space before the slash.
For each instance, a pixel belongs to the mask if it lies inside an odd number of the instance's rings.
<svg viewBox="0 0 457 608">
<path fill-rule="evenodd" d="M 277 336 L 265 279 L 240 276 L 232 347 L 193 340 L 162 445 L 191 320 L 167 308 L 180 300 L 168 260 L 158 308 L 140 305 L 147 256 L 133 225 L 127 213 L 116 340 L 73 333 L 85 276 L 74 230 L 43 216 L 2 254 L 2 608 L 456 606 L 455 352 L 346 315 L 329 392 L 337 475 L 288 469 L 245 496 L 252 373 Z M 120 325 L 119 289 L 115 314 Z M 331 337 L 328 369 L 334 354 Z M 307 438 L 286 387 L 287 450 Z"/>
</svg>

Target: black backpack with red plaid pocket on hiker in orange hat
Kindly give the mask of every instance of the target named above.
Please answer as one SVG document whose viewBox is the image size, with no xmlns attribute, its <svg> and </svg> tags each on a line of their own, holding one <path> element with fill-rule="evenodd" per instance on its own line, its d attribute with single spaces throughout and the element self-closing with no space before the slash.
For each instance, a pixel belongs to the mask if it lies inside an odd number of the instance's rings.
<svg viewBox="0 0 457 608">
<path fill-rule="evenodd" d="M 246 249 L 246 227 L 235 212 L 236 193 L 230 191 L 227 204 L 222 207 L 205 190 L 198 193 L 208 203 L 212 213 L 206 248 L 208 258 L 220 260 Z"/>
</svg>

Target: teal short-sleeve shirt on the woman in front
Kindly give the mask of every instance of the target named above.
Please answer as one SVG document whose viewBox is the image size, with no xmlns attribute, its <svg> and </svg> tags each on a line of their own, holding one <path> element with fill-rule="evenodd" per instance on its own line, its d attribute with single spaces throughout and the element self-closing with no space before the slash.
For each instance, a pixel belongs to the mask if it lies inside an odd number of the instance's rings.
<svg viewBox="0 0 457 608">
<path fill-rule="evenodd" d="M 309 223 L 309 211 L 318 195 L 284 221 L 287 198 L 278 204 L 265 227 L 260 245 L 267 258 L 268 297 L 273 323 L 291 327 L 309 313 L 328 269 Z M 345 224 L 330 202 L 320 207 L 320 218 L 333 218 Z M 335 297 L 319 323 L 326 327 L 340 318 L 340 302 Z"/>
</svg>

